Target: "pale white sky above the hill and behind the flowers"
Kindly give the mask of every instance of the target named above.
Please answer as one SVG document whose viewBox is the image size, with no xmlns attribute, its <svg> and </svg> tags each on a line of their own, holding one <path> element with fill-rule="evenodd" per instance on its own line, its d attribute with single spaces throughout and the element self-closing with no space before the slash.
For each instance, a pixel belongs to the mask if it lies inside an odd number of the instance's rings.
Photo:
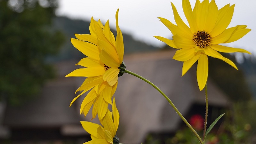
<svg viewBox="0 0 256 144">
<path fill-rule="evenodd" d="M 187 23 L 182 10 L 181 0 L 171 0 L 181 18 Z M 196 0 L 189 0 L 192 9 Z M 200 0 L 202 2 L 202 0 Z M 215 0 L 220 9 L 226 4 L 236 4 L 233 18 L 229 27 L 247 25 L 252 29 L 240 40 L 226 44 L 230 47 L 243 48 L 254 55 L 256 40 L 256 1 L 255 0 Z M 134 39 L 144 41 L 155 46 L 164 43 L 153 36 L 171 38 L 172 34 L 157 17 L 163 17 L 175 23 L 170 0 L 59 0 L 56 14 L 68 16 L 72 19 L 95 20 L 102 23 L 109 20 L 110 27 L 115 28 L 115 14 L 119 9 L 119 27 L 122 32 L 131 34 Z"/>
</svg>

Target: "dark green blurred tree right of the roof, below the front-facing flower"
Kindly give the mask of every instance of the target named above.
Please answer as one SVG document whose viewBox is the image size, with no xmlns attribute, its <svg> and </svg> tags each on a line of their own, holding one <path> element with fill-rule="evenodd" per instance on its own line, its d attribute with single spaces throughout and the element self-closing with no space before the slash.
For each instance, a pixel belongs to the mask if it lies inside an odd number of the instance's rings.
<svg viewBox="0 0 256 144">
<path fill-rule="evenodd" d="M 233 61 L 236 66 L 236 58 L 229 53 L 222 53 L 222 55 Z M 236 70 L 226 62 L 208 57 L 209 60 L 209 77 L 217 84 L 217 86 L 224 92 L 230 100 L 247 101 L 252 97 L 252 93 L 248 87 L 245 79 L 243 69 Z"/>
</svg>

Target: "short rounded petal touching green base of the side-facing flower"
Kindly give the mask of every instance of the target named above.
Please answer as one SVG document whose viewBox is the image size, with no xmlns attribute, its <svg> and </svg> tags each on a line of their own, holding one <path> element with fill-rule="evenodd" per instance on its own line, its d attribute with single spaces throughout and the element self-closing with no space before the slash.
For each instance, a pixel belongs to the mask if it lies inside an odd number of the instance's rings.
<svg viewBox="0 0 256 144">
<path fill-rule="evenodd" d="M 107 81 L 110 86 L 116 84 L 118 79 L 118 74 L 120 72 L 120 69 L 118 68 L 109 68 L 104 74 L 103 74 L 103 80 Z"/>
</svg>

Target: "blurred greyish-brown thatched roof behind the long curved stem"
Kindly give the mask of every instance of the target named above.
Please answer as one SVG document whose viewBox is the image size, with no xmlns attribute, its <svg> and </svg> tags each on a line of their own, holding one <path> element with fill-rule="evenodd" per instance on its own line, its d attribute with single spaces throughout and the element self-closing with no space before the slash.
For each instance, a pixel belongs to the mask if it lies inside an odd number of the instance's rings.
<svg viewBox="0 0 256 144">
<path fill-rule="evenodd" d="M 182 62 L 173 60 L 174 51 L 133 54 L 124 57 L 126 69 L 156 84 L 179 109 L 187 114 L 192 104 L 205 104 L 204 90 L 199 91 L 196 68 L 181 77 Z M 222 106 L 227 99 L 208 81 L 209 105 Z M 175 131 L 181 121 L 167 100 L 151 85 L 135 76 L 119 77 L 114 95 L 120 112 L 121 143 L 140 143 L 148 132 Z M 205 109 L 202 109 L 205 111 Z"/>
</svg>

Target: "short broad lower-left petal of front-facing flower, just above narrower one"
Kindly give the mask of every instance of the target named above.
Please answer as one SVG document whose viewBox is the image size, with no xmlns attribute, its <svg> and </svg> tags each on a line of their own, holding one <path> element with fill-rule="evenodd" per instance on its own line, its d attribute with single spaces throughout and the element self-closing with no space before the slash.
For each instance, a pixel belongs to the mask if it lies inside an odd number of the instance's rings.
<svg viewBox="0 0 256 144">
<path fill-rule="evenodd" d="M 172 59 L 179 61 L 187 61 L 196 55 L 195 48 L 191 49 L 180 49 L 175 52 Z"/>
</svg>

